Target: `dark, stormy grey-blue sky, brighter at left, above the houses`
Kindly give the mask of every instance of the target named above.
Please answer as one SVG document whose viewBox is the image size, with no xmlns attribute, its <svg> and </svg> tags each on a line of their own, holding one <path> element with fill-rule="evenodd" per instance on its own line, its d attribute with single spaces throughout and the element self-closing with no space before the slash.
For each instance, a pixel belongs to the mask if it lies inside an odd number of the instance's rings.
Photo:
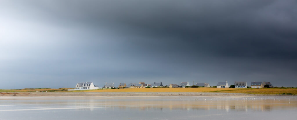
<svg viewBox="0 0 297 120">
<path fill-rule="evenodd" d="M 297 86 L 296 0 L 0 0 L 0 89 Z"/>
</svg>

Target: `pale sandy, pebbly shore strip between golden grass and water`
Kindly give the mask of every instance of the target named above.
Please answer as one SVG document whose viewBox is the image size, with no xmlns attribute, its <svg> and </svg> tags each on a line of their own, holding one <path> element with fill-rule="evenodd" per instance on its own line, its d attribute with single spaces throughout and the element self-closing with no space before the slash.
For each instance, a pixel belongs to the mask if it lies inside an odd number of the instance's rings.
<svg viewBox="0 0 297 120">
<path fill-rule="evenodd" d="M 0 97 L 59 97 L 59 96 L 106 96 L 106 97 L 150 97 L 150 96 L 296 96 L 279 94 L 243 94 L 243 93 L 219 93 L 219 92 L 7 92 L 0 93 Z"/>
</svg>

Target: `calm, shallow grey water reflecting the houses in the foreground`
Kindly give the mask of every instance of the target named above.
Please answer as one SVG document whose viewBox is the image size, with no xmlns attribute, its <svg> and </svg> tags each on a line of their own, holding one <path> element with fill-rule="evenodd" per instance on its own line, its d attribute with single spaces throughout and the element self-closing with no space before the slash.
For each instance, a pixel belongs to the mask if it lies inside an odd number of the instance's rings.
<svg viewBox="0 0 297 120">
<path fill-rule="evenodd" d="M 0 97 L 0 119 L 296 120 L 297 97 Z"/>
</svg>

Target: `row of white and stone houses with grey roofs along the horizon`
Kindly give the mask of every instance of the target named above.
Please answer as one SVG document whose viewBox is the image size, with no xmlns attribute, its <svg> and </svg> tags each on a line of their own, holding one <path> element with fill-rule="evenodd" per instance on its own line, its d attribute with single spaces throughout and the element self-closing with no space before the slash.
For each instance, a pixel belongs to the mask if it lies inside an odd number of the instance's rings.
<svg viewBox="0 0 297 120">
<path fill-rule="evenodd" d="M 103 87 L 99 87 L 98 85 L 94 85 L 93 82 L 83 82 L 83 83 L 77 83 L 75 85 L 75 89 L 68 89 L 68 91 L 73 90 L 94 90 L 94 89 L 125 89 L 125 88 L 198 88 L 198 87 L 214 87 L 214 88 L 273 88 L 272 84 L 270 82 L 251 82 L 250 86 L 247 86 L 247 81 L 239 82 L 235 81 L 234 85 L 228 84 L 228 81 L 225 80 L 224 82 L 218 82 L 217 86 L 210 86 L 208 83 L 196 83 L 190 86 L 189 82 L 180 82 L 179 84 L 169 84 L 169 85 L 163 85 L 162 82 L 159 83 L 151 83 L 146 84 L 145 82 L 139 82 L 139 83 L 119 83 L 119 86 L 116 87 L 115 83 L 105 83 Z"/>
</svg>

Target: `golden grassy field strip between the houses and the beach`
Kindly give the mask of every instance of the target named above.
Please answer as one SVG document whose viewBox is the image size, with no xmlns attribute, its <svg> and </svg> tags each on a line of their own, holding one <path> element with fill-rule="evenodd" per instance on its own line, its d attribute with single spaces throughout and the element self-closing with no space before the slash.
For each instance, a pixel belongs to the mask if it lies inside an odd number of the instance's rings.
<svg viewBox="0 0 297 120">
<path fill-rule="evenodd" d="M 0 92 L 224 92 L 224 93 L 243 93 L 243 94 L 297 94 L 297 88 L 135 88 L 135 89 L 97 89 L 97 90 L 78 90 L 66 91 L 64 89 L 21 89 L 3 90 Z M 69 88 L 68 88 L 69 89 Z"/>
</svg>

